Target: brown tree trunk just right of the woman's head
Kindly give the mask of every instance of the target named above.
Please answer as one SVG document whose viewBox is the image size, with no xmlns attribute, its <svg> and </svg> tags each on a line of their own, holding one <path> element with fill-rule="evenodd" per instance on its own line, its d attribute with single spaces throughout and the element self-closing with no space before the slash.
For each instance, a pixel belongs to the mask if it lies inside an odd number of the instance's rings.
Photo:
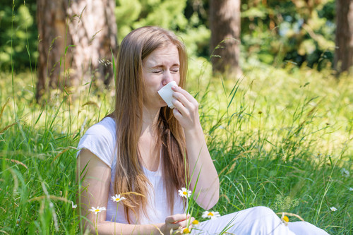
<svg viewBox="0 0 353 235">
<path fill-rule="evenodd" d="M 210 0 L 213 73 L 239 76 L 240 0 Z"/>
</svg>

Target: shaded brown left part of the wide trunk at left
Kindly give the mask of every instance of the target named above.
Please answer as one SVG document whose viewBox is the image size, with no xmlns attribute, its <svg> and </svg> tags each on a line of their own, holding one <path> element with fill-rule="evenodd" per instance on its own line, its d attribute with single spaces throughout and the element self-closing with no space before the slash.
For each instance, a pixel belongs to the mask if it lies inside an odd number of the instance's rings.
<svg viewBox="0 0 353 235">
<path fill-rule="evenodd" d="M 49 89 L 62 87 L 60 77 L 64 74 L 64 49 L 70 44 L 66 38 L 66 11 L 68 0 L 37 0 L 38 80 L 37 101 Z M 67 40 L 65 40 L 67 39 Z"/>
</svg>

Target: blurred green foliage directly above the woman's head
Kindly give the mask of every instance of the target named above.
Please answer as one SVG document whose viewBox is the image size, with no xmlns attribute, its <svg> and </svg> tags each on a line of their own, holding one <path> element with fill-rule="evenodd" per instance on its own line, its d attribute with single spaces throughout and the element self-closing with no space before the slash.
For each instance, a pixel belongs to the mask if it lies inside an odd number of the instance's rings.
<svg viewBox="0 0 353 235">
<path fill-rule="evenodd" d="M 190 4 L 192 2 L 186 0 L 116 0 L 119 42 L 133 29 L 158 25 L 177 32 L 191 57 L 208 57 L 210 30 L 204 22 L 207 16 L 198 12 L 203 5 L 195 10 L 191 8 L 189 14 L 184 13 L 186 8 L 191 7 Z"/>
</svg>

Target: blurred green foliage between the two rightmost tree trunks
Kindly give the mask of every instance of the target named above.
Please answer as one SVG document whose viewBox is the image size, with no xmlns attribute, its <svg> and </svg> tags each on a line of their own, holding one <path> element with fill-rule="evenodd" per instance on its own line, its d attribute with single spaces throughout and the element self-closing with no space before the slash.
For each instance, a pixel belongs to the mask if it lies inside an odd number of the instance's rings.
<svg viewBox="0 0 353 235">
<path fill-rule="evenodd" d="M 249 0 L 242 2 L 241 18 L 245 58 L 275 66 L 304 63 L 319 70 L 333 63 L 334 0 Z"/>
</svg>

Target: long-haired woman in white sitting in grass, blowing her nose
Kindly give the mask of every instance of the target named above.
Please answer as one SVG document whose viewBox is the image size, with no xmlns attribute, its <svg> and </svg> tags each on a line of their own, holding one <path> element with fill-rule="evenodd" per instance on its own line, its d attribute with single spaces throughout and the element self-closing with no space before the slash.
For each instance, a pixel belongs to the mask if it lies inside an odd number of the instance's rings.
<svg viewBox="0 0 353 235">
<path fill-rule="evenodd" d="M 217 203 L 220 183 L 198 102 L 183 89 L 186 72 L 184 44 L 168 30 L 138 28 L 121 42 L 114 113 L 90 127 L 78 145 L 80 213 L 92 234 L 175 234 L 193 220 L 177 194 L 186 182 L 205 210 Z M 174 109 L 157 93 L 171 81 L 178 84 L 172 88 Z M 91 207 L 107 210 L 94 208 L 94 214 Z M 305 222 L 286 226 L 267 207 L 202 222 L 192 233 L 217 234 L 227 224 L 227 232 L 236 234 L 294 234 L 289 229 L 296 228 L 327 234 Z"/>
</svg>

